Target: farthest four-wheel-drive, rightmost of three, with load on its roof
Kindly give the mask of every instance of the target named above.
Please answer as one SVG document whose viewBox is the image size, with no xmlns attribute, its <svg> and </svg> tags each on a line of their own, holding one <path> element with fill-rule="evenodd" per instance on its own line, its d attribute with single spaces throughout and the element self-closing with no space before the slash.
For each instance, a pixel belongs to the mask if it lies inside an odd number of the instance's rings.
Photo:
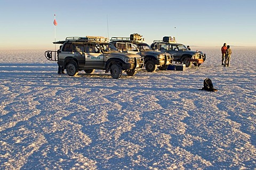
<svg viewBox="0 0 256 170">
<path fill-rule="evenodd" d="M 183 44 L 176 43 L 175 37 L 163 37 L 163 40 L 154 40 L 150 46 L 152 49 L 173 54 L 174 61 L 186 64 L 186 67 L 192 63 L 195 66 L 201 65 L 206 58 L 202 52 L 194 52 L 187 49 Z"/>
</svg>

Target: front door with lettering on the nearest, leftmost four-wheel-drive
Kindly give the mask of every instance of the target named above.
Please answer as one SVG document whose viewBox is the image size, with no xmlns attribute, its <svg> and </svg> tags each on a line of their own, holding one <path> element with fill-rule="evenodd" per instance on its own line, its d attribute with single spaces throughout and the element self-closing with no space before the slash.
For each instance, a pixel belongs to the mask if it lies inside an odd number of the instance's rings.
<svg viewBox="0 0 256 170">
<path fill-rule="evenodd" d="M 104 56 L 100 48 L 93 43 L 88 43 L 85 45 L 85 51 L 85 67 L 88 69 L 101 69 Z"/>
</svg>

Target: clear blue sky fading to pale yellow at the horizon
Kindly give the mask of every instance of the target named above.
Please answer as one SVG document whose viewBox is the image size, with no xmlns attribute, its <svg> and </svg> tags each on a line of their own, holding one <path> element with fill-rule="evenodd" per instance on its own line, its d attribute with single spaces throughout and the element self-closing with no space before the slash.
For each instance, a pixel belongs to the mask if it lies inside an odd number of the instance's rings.
<svg viewBox="0 0 256 170">
<path fill-rule="evenodd" d="M 0 0 L 0 49 L 54 47 L 54 14 L 56 40 L 139 33 L 149 45 L 174 36 L 190 46 L 256 46 L 255 6 L 255 0 Z"/>
</svg>

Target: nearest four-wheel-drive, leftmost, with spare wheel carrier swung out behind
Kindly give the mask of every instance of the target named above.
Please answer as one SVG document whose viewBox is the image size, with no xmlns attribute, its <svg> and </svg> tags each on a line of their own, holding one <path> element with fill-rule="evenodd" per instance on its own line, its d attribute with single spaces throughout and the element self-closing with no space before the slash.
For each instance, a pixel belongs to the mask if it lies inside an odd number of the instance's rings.
<svg viewBox="0 0 256 170">
<path fill-rule="evenodd" d="M 70 76 L 82 70 L 88 74 L 94 70 L 105 70 L 106 73 L 110 71 L 112 78 L 118 79 L 123 71 L 130 76 L 135 75 L 144 64 L 140 55 L 118 52 L 104 37 L 67 37 L 53 44 L 61 44 L 60 49 L 58 52 L 47 50 L 45 57 L 58 61 L 58 65 L 66 69 Z"/>
</svg>

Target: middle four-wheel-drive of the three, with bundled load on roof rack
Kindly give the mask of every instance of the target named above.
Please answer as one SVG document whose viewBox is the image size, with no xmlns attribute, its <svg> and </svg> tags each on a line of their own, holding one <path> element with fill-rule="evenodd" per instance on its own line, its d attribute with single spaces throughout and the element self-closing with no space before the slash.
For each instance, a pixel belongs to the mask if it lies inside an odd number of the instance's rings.
<svg viewBox="0 0 256 170">
<path fill-rule="evenodd" d="M 113 44 L 120 52 L 139 54 L 144 58 L 145 68 L 148 72 L 166 70 L 169 64 L 172 64 L 173 56 L 169 53 L 156 52 L 143 43 L 143 38 L 138 33 L 134 33 L 130 38 L 112 37 L 110 43 Z"/>
</svg>

